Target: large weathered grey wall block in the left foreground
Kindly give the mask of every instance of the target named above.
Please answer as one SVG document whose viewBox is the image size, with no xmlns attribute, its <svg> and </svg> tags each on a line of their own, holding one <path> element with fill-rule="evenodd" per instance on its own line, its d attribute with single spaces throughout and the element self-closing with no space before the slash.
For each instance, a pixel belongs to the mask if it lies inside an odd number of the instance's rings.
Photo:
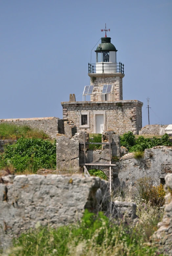
<svg viewBox="0 0 172 256">
<path fill-rule="evenodd" d="M 109 207 L 108 182 L 98 177 L 11 175 L 5 179 L 6 184 L 0 184 L 3 248 L 10 244 L 12 237 L 34 228 L 38 222 L 52 227 L 67 225 L 80 220 L 85 209 L 97 213 Z"/>
</svg>

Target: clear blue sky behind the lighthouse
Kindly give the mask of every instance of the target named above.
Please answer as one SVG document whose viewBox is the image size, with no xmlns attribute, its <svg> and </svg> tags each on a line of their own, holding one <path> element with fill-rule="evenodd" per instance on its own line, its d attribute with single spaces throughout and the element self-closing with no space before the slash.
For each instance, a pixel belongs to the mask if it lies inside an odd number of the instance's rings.
<svg viewBox="0 0 172 256">
<path fill-rule="evenodd" d="M 147 97 L 150 124 L 171 124 L 171 13 L 171 0 L 0 0 L 0 118 L 62 118 L 60 102 L 89 85 L 106 22 L 124 63 L 123 99 L 144 103 L 143 126 Z"/>
</svg>

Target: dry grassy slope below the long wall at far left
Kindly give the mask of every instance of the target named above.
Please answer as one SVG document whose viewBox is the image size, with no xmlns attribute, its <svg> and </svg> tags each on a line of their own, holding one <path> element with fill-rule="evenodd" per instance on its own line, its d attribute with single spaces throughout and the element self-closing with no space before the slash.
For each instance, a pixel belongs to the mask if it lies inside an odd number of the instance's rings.
<svg viewBox="0 0 172 256">
<path fill-rule="evenodd" d="M 29 126 L 17 126 L 14 124 L 0 124 L 0 140 L 18 140 L 19 138 L 40 138 L 48 139 L 49 136 L 40 130 Z"/>
</svg>

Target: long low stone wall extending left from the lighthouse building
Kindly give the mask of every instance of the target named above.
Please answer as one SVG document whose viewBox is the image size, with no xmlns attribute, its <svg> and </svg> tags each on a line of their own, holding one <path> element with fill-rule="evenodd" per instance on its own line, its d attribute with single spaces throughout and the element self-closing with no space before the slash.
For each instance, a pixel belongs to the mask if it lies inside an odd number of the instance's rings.
<svg viewBox="0 0 172 256">
<path fill-rule="evenodd" d="M 27 125 L 31 128 L 43 130 L 52 139 L 56 138 L 57 133 L 64 134 L 64 120 L 58 117 L 0 119 L 0 124 L 1 123 Z"/>
</svg>

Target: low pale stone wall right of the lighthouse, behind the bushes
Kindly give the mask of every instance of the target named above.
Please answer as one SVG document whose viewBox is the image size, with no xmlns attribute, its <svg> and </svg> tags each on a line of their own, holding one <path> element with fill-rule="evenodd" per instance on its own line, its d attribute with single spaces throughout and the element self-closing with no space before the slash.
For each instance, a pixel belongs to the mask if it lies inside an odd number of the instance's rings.
<svg viewBox="0 0 172 256">
<path fill-rule="evenodd" d="M 168 125 L 146 125 L 139 131 L 139 135 L 164 135 Z"/>
</svg>

